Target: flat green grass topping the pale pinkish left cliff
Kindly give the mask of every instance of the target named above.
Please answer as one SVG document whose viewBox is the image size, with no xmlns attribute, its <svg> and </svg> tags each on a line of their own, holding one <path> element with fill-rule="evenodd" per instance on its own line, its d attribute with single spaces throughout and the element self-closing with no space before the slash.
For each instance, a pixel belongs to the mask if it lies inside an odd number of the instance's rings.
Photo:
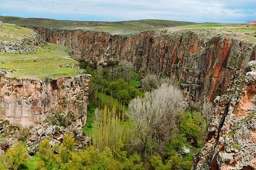
<svg viewBox="0 0 256 170">
<path fill-rule="evenodd" d="M 35 54 L 0 54 L 0 68 L 9 69 L 7 76 L 18 79 L 45 79 L 72 77 L 78 74 L 78 67 L 67 66 L 78 64 L 68 55 L 68 47 L 48 43 L 39 47 Z"/>
</svg>

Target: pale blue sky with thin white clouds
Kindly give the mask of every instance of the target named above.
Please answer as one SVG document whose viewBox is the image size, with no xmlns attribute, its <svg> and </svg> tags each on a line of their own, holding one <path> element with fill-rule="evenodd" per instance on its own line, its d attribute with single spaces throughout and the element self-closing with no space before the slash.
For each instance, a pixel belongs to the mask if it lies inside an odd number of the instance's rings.
<svg viewBox="0 0 256 170">
<path fill-rule="evenodd" d="M 0 16 L 76 21 L 256 21 L 256 0 L 0 0 Z"/>
</svg>

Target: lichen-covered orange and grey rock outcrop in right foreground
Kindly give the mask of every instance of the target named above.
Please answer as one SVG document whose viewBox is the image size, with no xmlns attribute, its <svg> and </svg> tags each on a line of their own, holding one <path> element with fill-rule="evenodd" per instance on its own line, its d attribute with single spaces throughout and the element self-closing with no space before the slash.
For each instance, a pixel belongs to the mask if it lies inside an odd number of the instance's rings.
<svg viewBox="0 0 256 170">
<path fill-rule="evenodd" d="M 256 169 L 256 72 L 249 70 L 237 72 L 228 93 L 215 98 L 206 145 L 195 169 Z"/>
</svg>

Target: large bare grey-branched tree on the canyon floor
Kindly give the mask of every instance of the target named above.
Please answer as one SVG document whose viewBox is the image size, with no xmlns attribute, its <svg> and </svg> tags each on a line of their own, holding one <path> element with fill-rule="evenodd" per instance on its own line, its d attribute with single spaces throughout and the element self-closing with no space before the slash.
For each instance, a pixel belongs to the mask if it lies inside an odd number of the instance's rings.
<svg viewBox="0 0 256 170">
<path fill-rule="evenodd" d="M 134 133 L 139 139 L 139 146 L 146 158 L 149 152 L 164 152 L 171 130 L 176 128 L 176 121 L 181 115 L 181 91 L 162 84 L 159 89 L 147 92 L 129 103 L 127 116 L 134 122 Z"/>
</svg>

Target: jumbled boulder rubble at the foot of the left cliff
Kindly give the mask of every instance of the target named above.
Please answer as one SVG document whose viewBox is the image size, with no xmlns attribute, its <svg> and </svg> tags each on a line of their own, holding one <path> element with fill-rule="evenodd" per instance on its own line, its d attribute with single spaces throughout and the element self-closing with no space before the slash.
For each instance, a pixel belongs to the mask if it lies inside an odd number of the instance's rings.
<svg viewBox="0 0 256 170">
<path fill-rule="evenodd" d="M 23 141 L 28 154 L 33 156 L 38 152 L 43 140 L 50 139 L 50 145 L 54 147 L 63 142 L 64 135 L 67 134 L 75 137 L 75 149 L 84 149 L 90 143 L 90 138 L 85 137 L 81 130 L 73 126 L 65 127 L 53 123 L 44 123 L 37 128 L 21 128 L 10 125 L 9 120 L 0 120 L 0 134 L 0 155 L 4 154 L 9 147 L 16 145 L 18 141 Z"/>
</svg>

